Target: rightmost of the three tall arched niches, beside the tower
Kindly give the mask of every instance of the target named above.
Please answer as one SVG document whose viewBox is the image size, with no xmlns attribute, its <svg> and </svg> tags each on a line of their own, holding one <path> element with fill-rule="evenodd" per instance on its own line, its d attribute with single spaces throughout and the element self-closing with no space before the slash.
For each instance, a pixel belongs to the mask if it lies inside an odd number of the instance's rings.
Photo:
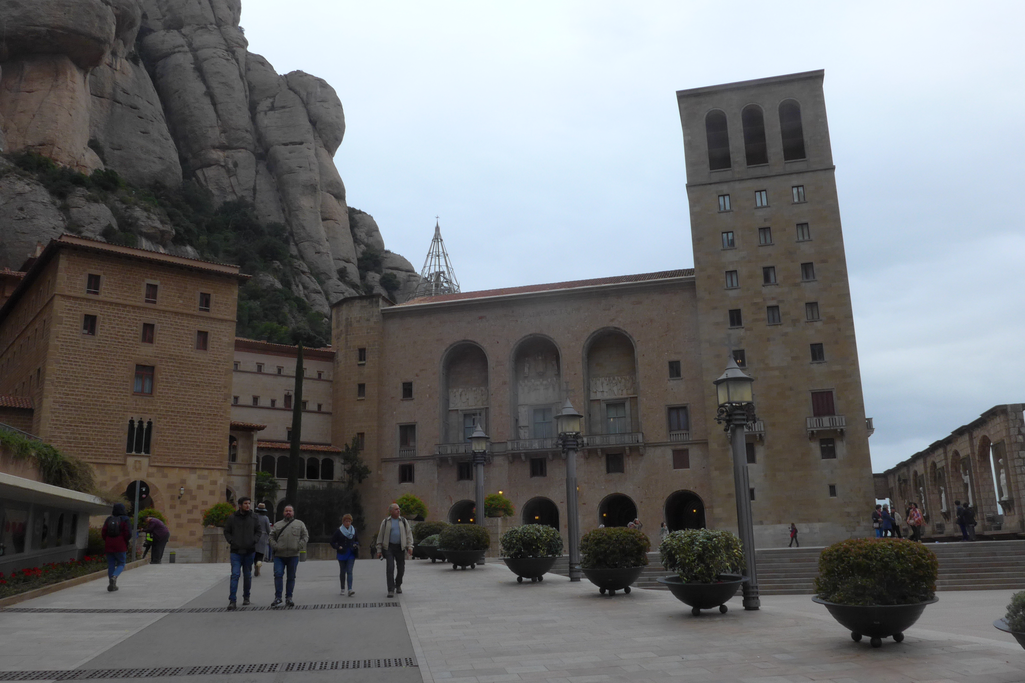
<svg viewBox="0 0 1025 683">
<path fill-rule="evenodd" d="M 638 425 L 637 357 L 633 341 L 620 330 L 602 330 L 587 343 L 587 432 L 625 434 Z"/>
</svg>

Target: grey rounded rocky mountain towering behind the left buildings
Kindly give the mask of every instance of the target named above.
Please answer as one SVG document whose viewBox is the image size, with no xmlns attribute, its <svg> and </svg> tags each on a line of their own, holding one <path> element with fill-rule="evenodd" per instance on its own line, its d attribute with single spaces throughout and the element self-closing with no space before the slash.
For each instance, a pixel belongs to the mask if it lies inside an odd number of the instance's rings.
<svg viewBox="0 0 1025 683">
<path fill-rule="evenodd" d="M 240 0 L 0 0 L 0 267 L 66 230 L 225 257 L 203 226 L 246 207 L 287 254 L 252 260 L 266 272 L 248 287 L 285 287 L 321 315 L 343 296 L 412 294 L 413 266 L 346 204 L 334 89 L 250 52 L 240 14 Z"/>
</svg>

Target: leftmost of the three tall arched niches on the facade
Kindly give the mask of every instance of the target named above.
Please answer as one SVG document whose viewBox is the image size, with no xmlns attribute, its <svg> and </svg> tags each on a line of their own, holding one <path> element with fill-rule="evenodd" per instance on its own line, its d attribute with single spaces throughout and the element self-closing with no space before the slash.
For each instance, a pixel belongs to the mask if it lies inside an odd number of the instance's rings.
<svg viewBox="0 0 1025 683">
<path fill-rule="evenodd" d="M 452 346 L 442 362 L 442 441 L 462 443 L 488 430 L 488 356 L 478 344 Z"/>
</svg>

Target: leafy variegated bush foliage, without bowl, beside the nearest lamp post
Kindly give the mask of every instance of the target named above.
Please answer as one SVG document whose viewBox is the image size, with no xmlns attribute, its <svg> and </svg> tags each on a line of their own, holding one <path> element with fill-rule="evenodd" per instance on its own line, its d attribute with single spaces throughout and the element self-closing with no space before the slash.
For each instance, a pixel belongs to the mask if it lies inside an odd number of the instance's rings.
<svg viewBox="0 0 1025 683">
<path fill-rule="evenodd" d="M 713 584 L 721 573 L 743 573 L 744 550 L 730 531 L 689 528 L 673 531 L 658 547 L 662 566 L 689 584 Z"/>
</svg>

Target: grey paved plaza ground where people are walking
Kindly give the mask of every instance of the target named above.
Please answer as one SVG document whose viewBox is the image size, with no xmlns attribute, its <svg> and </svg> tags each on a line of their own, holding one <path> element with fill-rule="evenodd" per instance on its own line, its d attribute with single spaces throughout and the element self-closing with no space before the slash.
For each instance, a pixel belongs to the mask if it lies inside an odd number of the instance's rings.
<svg viewBox="0 0 1025 683">
<path fill-rule="evenodd" d="M 266 608 L 268 572 L 254 580 L 254 608 L 232 613 L 228 565 L 144 566 L 117 593 L 97 581 L 12 608 L 42 611 L 0 612 L 0 672 L 159 667 L 154 680 L 169 683 L 1025 681 L 1025 650 L 991 626 L 1012 591 L 940 593 L 903 643 L 873 649 L 809 596 L 765 597 L 754 612 L 734 599 L 726 614 L 694 617 L 663 591 L 609 598 L 556 574 L 517 584 L 501 562 L 463 571 L 414 561 L 406 593 L 388 600 L 383 570 L 357 561 L 357 595 L 345 598 L 336 563 L 300 564 L 302 608 L 287 610 Z M 69 611 L 111 608 L 157 611 Z"/>
</svg>

